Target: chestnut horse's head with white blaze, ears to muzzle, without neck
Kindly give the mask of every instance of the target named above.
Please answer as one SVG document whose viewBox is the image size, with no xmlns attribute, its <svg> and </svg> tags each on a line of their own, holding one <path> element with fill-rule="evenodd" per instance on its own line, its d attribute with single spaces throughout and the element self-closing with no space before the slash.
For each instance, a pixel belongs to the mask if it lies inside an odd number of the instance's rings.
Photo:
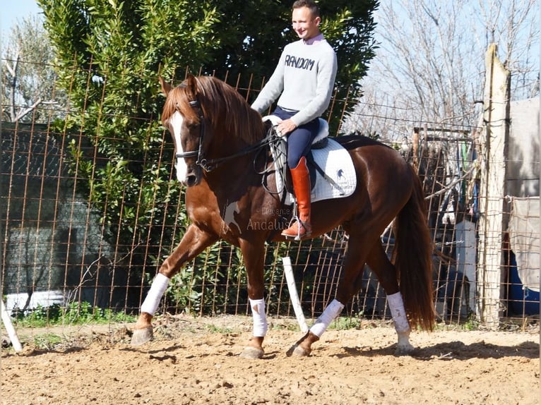
<svg viewBox="0 0 541 405">
<path fill-rule="evenodd" d="M 160 83 L 167 96 L 162 123 L 173 137 L 177 179 L 185 186 L 197 186 L 203 176 L 201 150 L 205 133 L 197 79 L 189 75 L 182 84 L 172 87 L 160 77 Z"/>
</svg>

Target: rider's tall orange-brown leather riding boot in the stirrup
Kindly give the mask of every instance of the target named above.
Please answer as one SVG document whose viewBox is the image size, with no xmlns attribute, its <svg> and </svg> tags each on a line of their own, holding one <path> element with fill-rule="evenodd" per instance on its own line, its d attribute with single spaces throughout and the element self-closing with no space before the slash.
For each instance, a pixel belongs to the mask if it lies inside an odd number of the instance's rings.
<svg viewBox="0 0 541 405">
<path fill-rule="evenodd" d="M 301 157 L 297 167 L 291 169 L 291 179 L 295 198 L 297 198 L 299 217 L 294 224 L 282 232 L 282 236 L 300 241 L 310 236 L 312 231 L 310 224 L 310 174 L 306 157 Z"/>
</svg>

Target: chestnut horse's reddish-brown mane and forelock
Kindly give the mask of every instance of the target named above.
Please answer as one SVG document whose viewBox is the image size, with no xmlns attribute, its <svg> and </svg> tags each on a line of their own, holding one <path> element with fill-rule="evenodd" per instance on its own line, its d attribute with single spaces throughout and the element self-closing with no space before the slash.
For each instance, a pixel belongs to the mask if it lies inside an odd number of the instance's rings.
<svg viewBox="0 0 541 405">
<path fill-rule="evenodd" d="M 223 128 L 224 135 L 238 137 L 248 144 L 263 138 L 261 115 L 251 109 L 248 102 L 227 83 L 212 76 L 196 77 L 196 95 L 182 83 L 167 95 L 162 111 L 162 121 L 178 110 L 189 121 L 198 122 L 198 112 L 189 102 L 195 99 L 201 104 L 203 116 L 213 128 Z"/>
</svg>

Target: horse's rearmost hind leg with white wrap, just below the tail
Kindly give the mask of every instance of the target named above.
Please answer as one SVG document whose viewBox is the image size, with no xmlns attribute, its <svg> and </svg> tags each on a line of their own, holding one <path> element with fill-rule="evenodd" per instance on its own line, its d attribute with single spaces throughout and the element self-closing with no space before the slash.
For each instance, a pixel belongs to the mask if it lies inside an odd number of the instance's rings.
<svg viewBox="0 0 541 405">
<path fill-rule="evenodd" d="M 398 334 L 398 344 L 395 354 L 402 356 L 411 353 L 414 348 L 410 344 L 410 322 L 406 317 L 404 302 L 398 287 L 396 269 L 388 259 L 383 246 L 376 243 L 367 257 L 367 265 L 378 277 L 379 284 L 387 294 L 387 302 Z"/>
</svg>

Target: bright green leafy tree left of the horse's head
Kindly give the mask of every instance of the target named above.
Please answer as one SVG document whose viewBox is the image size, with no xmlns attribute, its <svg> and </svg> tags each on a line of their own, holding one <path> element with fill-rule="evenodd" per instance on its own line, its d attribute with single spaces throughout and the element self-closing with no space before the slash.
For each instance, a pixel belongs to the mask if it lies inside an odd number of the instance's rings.
<svg viewBox="0 0 541 405">
<path fill-rule="evenodd" d="M 178 223 L 182 231 L 186 214 L 167 210 L 181 197 L 158 120 L 157 76 L 183 77 L 186 66 L 208 60 L 208 49 L 219 46 L 217 13 L 208 1 L 38 3 L 57 52 L 58 83 L 69 89 L 59 131 L 83 135 L 71 141 L 78 191 L 100 212 L 119 252 L 136 246 L 131 267 L 160 262 L 157 247 L 174 238 L 167 231 L 162 240 L 163 230 Z"/>
</svg>

